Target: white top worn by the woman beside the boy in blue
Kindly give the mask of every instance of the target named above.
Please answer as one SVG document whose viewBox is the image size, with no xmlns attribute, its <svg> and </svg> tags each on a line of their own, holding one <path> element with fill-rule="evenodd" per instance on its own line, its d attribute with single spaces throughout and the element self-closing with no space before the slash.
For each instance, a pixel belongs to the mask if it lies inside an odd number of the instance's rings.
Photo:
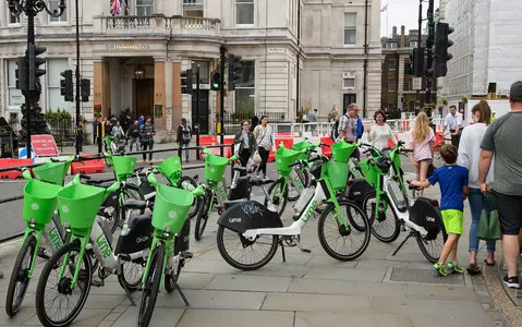
<svg viewBox="0 0 522 327">
<path fill-rule="evenodd" d="M 462 130 L 459 143 L 459 158 L 457 165 L 468 168 L 470 171 L 470 187 L 481 189 L 478 184 L 478 158 L 481 157 L 481 143 L 487 126 L 485 123 L 472 124 Z M 486 177 L 486 183 L 493 185 L 494 162 Z"/>
</svg>

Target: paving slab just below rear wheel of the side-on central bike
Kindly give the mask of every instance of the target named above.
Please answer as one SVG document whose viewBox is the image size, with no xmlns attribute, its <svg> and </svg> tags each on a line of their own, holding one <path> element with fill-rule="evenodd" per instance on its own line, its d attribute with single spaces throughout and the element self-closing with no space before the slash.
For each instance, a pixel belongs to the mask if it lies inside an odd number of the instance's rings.
<svg viewBox="0 0 522 327">
<path fill-rule="evenodd" d="M 208 286 L 209 290 L 286 292 L 290 277 L 219 275 Z"/>
</svg>

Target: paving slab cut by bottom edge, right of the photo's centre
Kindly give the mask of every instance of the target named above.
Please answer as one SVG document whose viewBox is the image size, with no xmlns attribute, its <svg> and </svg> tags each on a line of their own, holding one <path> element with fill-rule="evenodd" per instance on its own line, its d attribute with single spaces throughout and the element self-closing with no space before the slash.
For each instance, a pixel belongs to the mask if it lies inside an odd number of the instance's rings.
<svg viewBox="0 0 522 327">
<path fill-rule="evenodd" d="M 369 313 L 295 313 L 294 327 L 357 326 L 413 327 L 409 315 Z"/>
</svg>

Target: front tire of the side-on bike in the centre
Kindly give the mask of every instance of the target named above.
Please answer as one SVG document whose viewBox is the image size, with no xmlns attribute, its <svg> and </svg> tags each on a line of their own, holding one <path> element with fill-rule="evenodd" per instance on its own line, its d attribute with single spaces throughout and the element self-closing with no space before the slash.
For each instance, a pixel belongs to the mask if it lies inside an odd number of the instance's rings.
<svg viewBox="0 0 522 327">
<path fill-rule="evenodd" d="M 323 246 L 323 249 L 325 250 L 325 252 L 329 256 L 331 256 L 331 257 L 333 257 L 333 258 L 336 258 L 340 262 L 350 262 L 350 261 L 353 261 L 353 259 L 356 259 L 357 257 L 360 257 L 366 251 L 366 249 L 368 247 L 369 238 L 371 238 L 369 221 L 368 221 L 368 217 L 366 216 L 366 214 L 354 202 L 349 201 L 349 199 L 340 199 L 338 203 L 339 203 L 340 207 L 343 206 L 343 205 L 348 205 L 351 208 L 355 209 L 357 211 L 357 214 L 361 215 L 361 217 L 363 218 L 365 228 L 364 228 L 364 231 L 362 231 L 362 232 L 364 232 L 364 240 L 361 244 L 361 247 L 357 249 L 352 254 L 340 254 L 340 253 L 336 252 L 333 249 L 331 249 L 331 246 L 328 244 L 327 238 L 325 235 L 325 222 L 326 222 L 326 217 L 328 216 L 328 213 L 336 209 L 333 204 L 330 204 L 320 215 L 319 221 L 317 222 L 317 235 L 319 237 L 320 245 Z M 351 233 L 353 231 L 351 231 Z M 347 237 L 349 237 L 349 235 L 347 235 Z"/>
</svg>

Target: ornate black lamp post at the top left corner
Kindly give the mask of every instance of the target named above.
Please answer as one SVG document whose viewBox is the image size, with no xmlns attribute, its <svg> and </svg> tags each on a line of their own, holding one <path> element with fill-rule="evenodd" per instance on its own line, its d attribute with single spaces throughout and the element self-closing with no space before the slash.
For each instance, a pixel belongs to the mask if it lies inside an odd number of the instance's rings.
<svg viewBox="0 0 522 327">
<path fill-rule="evenodd" d="M 65 11 L 65 0 L 60 0 L 60 4 L 58 5 L 59 10 L 51 10 L 49 5 L 46 3 L 45 0 L 7 0 L 8 8 L 11 11 L 13 16 L 19 17 L 22 13 L 25 13 L 27 16 L 27 51 L 26 58 L 28 57 L 29 49 L 35 45 L 35 16 L 40 11 L 46 11 L 51 17 L 59 17 Z M 25 130 L 26 130 L 26 141 L 27 141 L 27 158 L 31 158 L 31 109 L 33 107 L 32 99 L 35 99 L 34 105 L 38 105 L 38 100 L 41 93 L 41 85 L 39 83 L 39 78 L 36 75 L 35 71 L 27 70 L 27 81 L 32 77 L 31 75 L 35 75 L 34 78 L 36 80 L 35 84 L 36 87 L 32 90 L 25 90 L 25 110 L 26 110 L 26 118 L 25 118 Z M 24 92 L 23 92 L 24 93 Z"/>
</svg>

